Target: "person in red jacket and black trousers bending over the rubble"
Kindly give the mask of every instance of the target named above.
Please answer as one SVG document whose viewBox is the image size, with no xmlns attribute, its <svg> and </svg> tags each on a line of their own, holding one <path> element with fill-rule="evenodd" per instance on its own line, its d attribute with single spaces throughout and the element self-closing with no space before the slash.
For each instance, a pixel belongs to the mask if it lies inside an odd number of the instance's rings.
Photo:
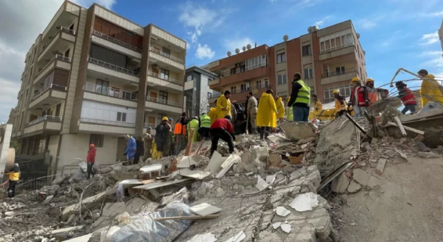
<svg viewBox="0 0 443 242">
<path fill-rule="evenodd" d="M 214 151 L 217 150 L 219 139 L 228 143 L 229 153 L 234 152 L 234 129 L 231 123 L 230 115 L 226 115 L 224 118 L 219 118 L 211 124 L 209 128 L 210 133 L 210 157 L 213 156 Z"/>
</svg>

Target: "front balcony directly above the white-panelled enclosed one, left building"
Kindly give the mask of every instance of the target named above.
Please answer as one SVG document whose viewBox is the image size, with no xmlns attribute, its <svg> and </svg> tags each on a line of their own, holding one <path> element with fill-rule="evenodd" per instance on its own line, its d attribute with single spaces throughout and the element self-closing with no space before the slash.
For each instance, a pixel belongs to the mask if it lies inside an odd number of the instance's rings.
<svg viewBox="0 0 443 242">
<path fill-rule="evenodd" d="M 85 91 L 83 98 L 87 100 L 137 107 L 137 93 L 113 89 L 109 86 L 100 86 L 90 82 L 84 84 L 83 90 Z"/>
</svg>

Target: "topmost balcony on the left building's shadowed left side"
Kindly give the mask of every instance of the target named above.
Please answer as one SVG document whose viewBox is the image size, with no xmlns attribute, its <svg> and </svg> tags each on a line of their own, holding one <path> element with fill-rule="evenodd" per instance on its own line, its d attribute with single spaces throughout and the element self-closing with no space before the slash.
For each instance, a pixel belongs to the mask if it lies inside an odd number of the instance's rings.
<svg viewBox="0 0 443 242">
<path fill-rule="evenodd" d="M 51 40 L 48 42 L 48 44 L 44 44 L 37 62 L 41 62 L 44 59 L 49 59 L 55 54 L 62 55 L 60 51 L 64 51 L 70 46 L 73 46 L 75 42 L 75 31 L 61 26 L 58 28 L 55 35 L 49 39 Z"/>
</svg>

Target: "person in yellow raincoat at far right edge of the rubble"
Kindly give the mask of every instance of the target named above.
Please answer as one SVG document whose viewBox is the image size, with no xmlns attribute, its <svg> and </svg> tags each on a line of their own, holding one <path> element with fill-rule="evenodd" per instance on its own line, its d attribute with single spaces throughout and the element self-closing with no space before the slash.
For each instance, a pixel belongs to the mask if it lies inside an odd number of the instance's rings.
<svg viewBox="0 0 443 242">
<path fill-rule="evenodd" d="M 422 69 L 417 73 L 422 77 L 422 85 L 420 86 L 420 96 L 422 97 L 422 106 L 428 102 L 437 102 L 443 105 L 443 88 L 435 80 L 434 75 Z"/>
</svg>

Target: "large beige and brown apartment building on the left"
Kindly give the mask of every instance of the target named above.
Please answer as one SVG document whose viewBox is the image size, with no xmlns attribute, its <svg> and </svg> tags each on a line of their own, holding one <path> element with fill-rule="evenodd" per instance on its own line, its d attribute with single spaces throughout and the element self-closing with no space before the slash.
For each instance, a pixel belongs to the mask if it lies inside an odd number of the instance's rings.
<svg viewBox="0 0 443 242">
<path fill-rule="evenodd" d="M 123 136 L 181 115 L 185 57 L 186 41 L 153 24 L 64 1 L 26 55 L 9 121 L 19 155 L 48 153 L 60 170 L 93 143 L 101 164 L 124 160 Z"/>
</svg>

